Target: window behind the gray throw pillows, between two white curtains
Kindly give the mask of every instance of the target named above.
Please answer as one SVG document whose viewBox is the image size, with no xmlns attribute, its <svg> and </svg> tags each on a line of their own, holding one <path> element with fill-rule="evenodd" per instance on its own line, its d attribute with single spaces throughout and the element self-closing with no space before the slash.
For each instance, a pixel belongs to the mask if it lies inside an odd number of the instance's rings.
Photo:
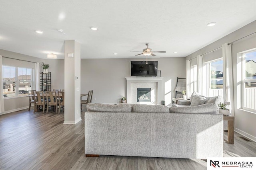
<svg viewBox="0 0 256 170">
<path fill-rule="evenodd" d="M 223 96 L 223 60 L 208 63 L 208 96 Z"/>
</svg>

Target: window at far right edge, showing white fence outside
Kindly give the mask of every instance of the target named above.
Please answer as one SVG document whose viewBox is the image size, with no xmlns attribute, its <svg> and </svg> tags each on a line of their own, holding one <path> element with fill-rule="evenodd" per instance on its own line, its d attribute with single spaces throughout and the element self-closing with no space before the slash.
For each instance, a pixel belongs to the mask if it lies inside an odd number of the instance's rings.
<svg viewBox="0 0 256 170">
<path fill-rule="evenodd" d="M 256 111 L 256 51 L 242 55 L 242 108 Z"/>
</svg>

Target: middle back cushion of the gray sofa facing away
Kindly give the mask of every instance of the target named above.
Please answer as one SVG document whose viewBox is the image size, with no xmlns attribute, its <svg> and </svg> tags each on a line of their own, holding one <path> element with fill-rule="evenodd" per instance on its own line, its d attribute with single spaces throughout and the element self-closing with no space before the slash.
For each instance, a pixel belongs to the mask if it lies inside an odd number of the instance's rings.
<svg viewBox="0 0 256 170">
<path fill-rule="evenodd" d="M 132 112 L 137 113 L 170 113 L 169 107 L 162 105 L 133 104 Z"/>
</svg>

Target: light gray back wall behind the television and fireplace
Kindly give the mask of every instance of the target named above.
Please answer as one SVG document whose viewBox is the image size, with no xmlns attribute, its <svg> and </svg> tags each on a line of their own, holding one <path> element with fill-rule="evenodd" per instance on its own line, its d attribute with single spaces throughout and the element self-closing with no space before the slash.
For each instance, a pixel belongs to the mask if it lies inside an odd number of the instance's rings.
<svg viewBox="0 0 256 170">
<path fill-rule="evenodd" d="M 122 96 L 126 96 L 125 77 L 131 76 L 130 61 L 143 60 L 146 59 L 82 59 L 81 93 L 94 90 L 92 103 L 120 103 Z M 150 58 L 148 61 L 158 61 L 167 105 L 175 97 L 177 77 L 186 77 L 185 57 Z"/>
</svg>

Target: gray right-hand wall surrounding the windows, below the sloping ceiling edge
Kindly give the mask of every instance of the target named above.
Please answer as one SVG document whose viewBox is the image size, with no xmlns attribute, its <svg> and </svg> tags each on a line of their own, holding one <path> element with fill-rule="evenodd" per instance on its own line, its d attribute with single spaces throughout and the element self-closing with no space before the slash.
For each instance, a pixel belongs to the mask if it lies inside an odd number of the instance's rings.
<svg viewBox="0 0 256 170">
<path fill-rule="evenodd" d="M 192 53 L 191 55 L 188 55 L 186 57 L 186 60 L 192 59 L 196 57 L 196 55 L 207 53 L 208 51 L 212 51 L 213 49 L 216 49 L 218 47 L 221 47 L 224 43 L 230 43 L 232 41 L 236 41 L 237 39 L 240 39 L 242 37 L 245 37 L 246 35 L 249 35 L 251 33 L 255 32 L 256 28 L 256 21 L 234 31 L 233 33 L 230 33 L 229 35 L 219 39 L 218 41 L 215 41 L 214 43 L 211 43 L 210 45 L 207 45 L 206 47 Z M 238 64 L 240 63 L 237 53 L 240 53 L 242 51 L 246 51 L 249 49 L 253 49 L 256 47 L 256 34 L 251 35 L 249 37 L 246 37 L 244 39 L 241 39 L 239 41 L 236 41 L 232 45 L 232 63 L 233 63 L 233 76 L 234 76 L 234 115 L 235 115 L 235 131 L 238 133 L 241 133 L 242 135 L 245 135 L 246 137 L 256 141 L 256 113 L 252 113 L 250 111 L 246 111 L 243 109 L 240 109 L 240 91 L 241 91 L 241 80 L 237 79 L 237 72 L 240 74 L 240 70 L 238 70 Z M 222 57 L 221 55 L 222 49 L 218 49 L 214 53 L 209 53 L 208 55 L 204 56 L 204 61 L 210 61 L 212 59 L 218 59 Z M 239 68 L 240 69 L 240 68 Z"/>
</svg>

